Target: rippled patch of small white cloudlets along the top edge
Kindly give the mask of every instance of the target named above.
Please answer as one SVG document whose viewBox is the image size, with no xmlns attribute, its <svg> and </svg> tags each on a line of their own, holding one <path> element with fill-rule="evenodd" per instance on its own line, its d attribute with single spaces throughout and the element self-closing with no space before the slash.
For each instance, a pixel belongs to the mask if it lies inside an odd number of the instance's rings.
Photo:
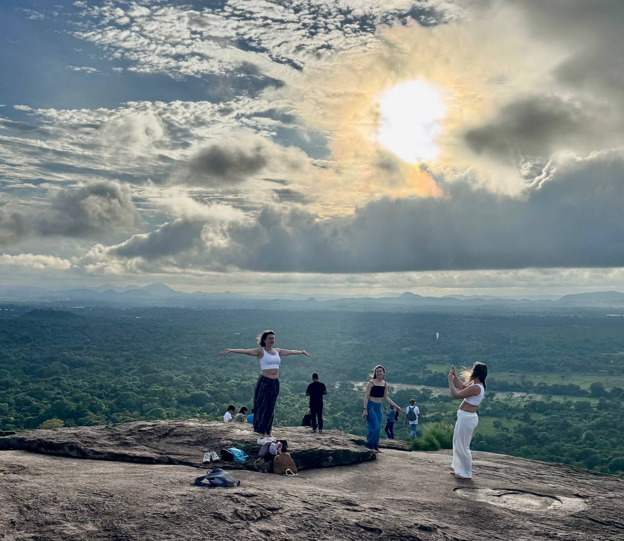
<svg viewBox="0 0 624 541">
<path fill-rule="evenodd" d="M 303 0 L 292 5 L 226 0 L 201 11 L 112 1 L 84 6 L 74 35 L 102 47 L 111 59 L 130 62 L 130 71 L 180 78 L 225 75 L 252 65 L 263 76 L 290 80 L 335 52 L 366 51 L 378 26 L 409 16 L 426 17 L 432 24 L 459 11 L 441 0 Z"/>
</svg>

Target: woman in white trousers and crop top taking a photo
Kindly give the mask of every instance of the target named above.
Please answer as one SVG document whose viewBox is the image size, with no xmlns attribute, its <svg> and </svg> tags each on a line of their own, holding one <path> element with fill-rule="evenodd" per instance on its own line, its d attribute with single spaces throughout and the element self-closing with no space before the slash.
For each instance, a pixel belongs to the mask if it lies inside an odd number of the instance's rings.
<svg viewBox="0 0 624 541">
<path fill-rule="evenodd" d="M 451 475 L 459 479 L 472 477 L 472 455 L 470 454 L 470 440 L 472 432 L 479 423 L 477 407 L 485 394 L 485 378 L 487 366 L 483 363 L 474 363 L 472 369 L 462 371 L 462 379 L 457 376 L 455 367 L 449 372 L 449 389 L 453 398 L 462 399 L 457 410 L 457 422 L 453 432 L 453 462 Z M 456 387 L 457 386 L 457 387 Z"/>
</svg>

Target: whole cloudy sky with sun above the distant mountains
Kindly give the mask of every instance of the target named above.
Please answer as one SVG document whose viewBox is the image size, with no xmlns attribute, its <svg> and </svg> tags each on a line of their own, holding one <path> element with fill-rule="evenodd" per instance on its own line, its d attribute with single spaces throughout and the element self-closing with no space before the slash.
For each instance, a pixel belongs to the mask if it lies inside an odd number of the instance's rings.
<svg viewBox="0 0 624 541">
<path fill-rule="evenodd" d="M 624 291 L 624 3 L 0 4 L 0 283 Z"/>
</svg>

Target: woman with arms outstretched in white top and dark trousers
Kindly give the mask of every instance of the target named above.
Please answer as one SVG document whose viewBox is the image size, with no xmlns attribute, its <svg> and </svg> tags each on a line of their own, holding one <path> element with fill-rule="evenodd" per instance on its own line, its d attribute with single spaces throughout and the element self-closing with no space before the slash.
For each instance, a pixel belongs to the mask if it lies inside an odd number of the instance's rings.
<svg viewBox="0 0 624 541">
<path fill-rule="evenodd" d="M 305 355 L 310 357 L 305 349 L 282 349 L 275 348 L 275 331 L 266 330 L 258 336 L 258 348 L 253 349 L 230 349 L 221 350 L 220 355 L 228 353 L 243 353 L 257 357 L 260 361 L 260 377 L 256 382 L 253 396 L 253 429 L 260 434 L 258 445 L 268 441 L 275 441 L 271 436 L 275 403 L 280 394 L 280 380 L 278 373 L 283 357 L 288 355 Z"/>
</svg>

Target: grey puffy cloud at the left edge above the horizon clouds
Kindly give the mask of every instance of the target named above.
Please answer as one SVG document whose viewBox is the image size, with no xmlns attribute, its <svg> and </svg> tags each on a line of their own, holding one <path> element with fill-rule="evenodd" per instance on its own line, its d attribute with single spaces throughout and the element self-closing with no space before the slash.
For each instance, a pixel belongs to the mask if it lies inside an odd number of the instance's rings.
<svg viewBox="0 0 624 541">
<path fill-rule="evenodd" d="M 38 208 L 16 202 L 0 207 L 0 242 L 12 244 L 35 235 L 101 238 L 140 223 L 130 189 L 119 182 L 51 187 L 47 193 L 49 204 Z"/>
</svg>

